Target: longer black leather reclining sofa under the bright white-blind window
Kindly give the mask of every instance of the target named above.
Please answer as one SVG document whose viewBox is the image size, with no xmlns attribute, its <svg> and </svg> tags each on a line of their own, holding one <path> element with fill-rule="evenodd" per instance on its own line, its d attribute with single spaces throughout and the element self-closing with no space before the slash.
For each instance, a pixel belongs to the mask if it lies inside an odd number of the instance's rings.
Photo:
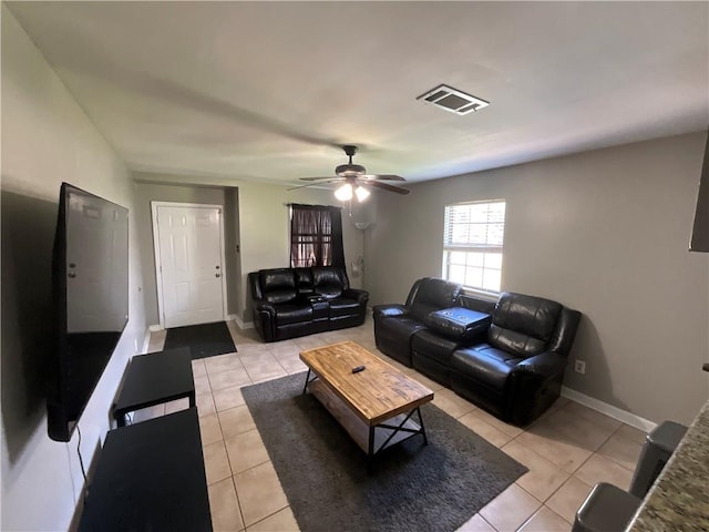
<svg viewBox="0 0 709 532">
<path fill-rule="evenodd" d="M 379 350 L 525 426 L 559 396 L 580 314 L 523 294 L 486 301 L 427 277 L 405 305 L 378 305 L 373 318 Z"/>
</svg>

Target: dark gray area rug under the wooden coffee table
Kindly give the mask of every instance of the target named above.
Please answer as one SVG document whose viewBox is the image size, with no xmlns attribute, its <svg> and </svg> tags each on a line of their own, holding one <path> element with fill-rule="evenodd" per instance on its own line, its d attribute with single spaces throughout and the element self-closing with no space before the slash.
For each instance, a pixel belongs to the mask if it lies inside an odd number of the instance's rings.
<svg viewBox="0 0 709 532">
<path fill-rule="evenodd" d="M 420 436 L 366 456 L 310 393 L 306 374 L 243 388 L 304 532 L 454 531 L 527 471 L 431 403 Z"/>
</svg>

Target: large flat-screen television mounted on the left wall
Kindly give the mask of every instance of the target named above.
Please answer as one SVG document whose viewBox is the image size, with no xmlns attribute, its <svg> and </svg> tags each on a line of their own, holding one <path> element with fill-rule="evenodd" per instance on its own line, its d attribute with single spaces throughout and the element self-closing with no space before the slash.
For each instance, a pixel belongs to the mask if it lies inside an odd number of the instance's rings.
<svg viewBox="0 0 709 532">
<path fill-rule="evenodd" d="M 69 441 L 129 319 L 129 211 L 62 183 L 52 254 L 48 432 Z"/>
</svg>

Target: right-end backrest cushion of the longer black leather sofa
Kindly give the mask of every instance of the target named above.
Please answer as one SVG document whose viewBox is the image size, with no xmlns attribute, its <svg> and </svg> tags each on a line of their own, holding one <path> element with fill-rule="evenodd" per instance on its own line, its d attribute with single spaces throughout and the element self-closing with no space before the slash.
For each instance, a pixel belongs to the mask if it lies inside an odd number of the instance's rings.
<svg viewBox="0 0 709 532">
<path fill-rule="evenodd" d="M 503 293 L 495 305 L 487 335 L 491 346 L 523 358 L 544 350 L 562 305 L 541 297 Z"/>
</svg>

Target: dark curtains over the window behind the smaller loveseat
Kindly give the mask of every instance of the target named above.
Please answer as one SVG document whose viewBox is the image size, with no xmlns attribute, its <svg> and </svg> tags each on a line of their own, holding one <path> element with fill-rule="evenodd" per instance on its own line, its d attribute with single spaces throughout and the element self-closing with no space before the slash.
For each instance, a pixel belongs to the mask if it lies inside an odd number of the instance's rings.
<svg viewBox="0 0 709 532">
<path fill-rule="evenodd" d="M 291 205 L 290 266 L 345 267 L 339 207 Z"/>
</svg>

